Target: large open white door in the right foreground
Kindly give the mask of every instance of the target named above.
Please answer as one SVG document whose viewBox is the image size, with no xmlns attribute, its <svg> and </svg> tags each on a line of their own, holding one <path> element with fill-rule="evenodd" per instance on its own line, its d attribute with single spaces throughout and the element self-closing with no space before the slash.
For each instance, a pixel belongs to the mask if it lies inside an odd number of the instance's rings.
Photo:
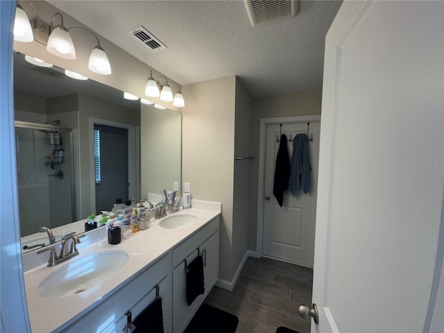
<svg viewBox="0 0 444 333">
<path fill-rule="evenodd" d="M 327 33 L 312 332 L 443 316 L 443 16 L 443 1 L 344 1 Z"/>
</svg>

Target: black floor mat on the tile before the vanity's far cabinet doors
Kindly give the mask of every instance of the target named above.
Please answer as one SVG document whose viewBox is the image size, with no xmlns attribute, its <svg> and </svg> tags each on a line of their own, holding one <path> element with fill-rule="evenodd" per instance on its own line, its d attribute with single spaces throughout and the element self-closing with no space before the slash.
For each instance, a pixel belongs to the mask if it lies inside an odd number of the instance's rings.
<svg viewBox="0 0 444 333">
<path fill-rule="evenodd" d="M 184 333 L 235 333 L 239 319 L 234 314 L 203 304 Z"/>
</svg>

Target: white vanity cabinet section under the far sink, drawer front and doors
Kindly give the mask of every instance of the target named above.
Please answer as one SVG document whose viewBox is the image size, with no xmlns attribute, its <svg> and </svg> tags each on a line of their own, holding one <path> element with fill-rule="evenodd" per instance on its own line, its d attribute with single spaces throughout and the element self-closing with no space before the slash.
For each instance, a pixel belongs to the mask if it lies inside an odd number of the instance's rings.
<svg viewBox="0 0 444 333">
<path fill-rule="evenodd" d="M 189 264 L 198 256 L 198 252 L 203 255 L 205 293 L 188 305 L 184 259 Z M 177 264 L 173 268 L 173 332 L 176 333 L 185 330 L 219 278 L 219 217 L 173 249 L 173 262 Z"/>
</svg>

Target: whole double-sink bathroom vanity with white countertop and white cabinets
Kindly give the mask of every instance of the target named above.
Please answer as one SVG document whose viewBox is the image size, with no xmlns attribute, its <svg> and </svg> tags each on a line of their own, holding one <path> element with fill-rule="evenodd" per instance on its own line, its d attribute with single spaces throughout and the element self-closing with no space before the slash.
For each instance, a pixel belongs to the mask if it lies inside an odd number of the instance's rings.
<svg viewBox="0 0 444 333">
<path fill-rule="evenodd" d="M 27 253 L 32 331 L 125 332 L 161 297 L 164 332 L 183 332 L 219 278 L 220 213 L 220 203 L 196 200 L 193 208 L 153 219 L 148 230 L 117 245 L 108 244 L 105 228 L 92 230 L 78 244 L 80 255 L 54 267 L 46 266 L 49 253 Z M 185 260 L 197 255 L 203 256 L 205 293 L 188 306 Z"/>
</svg>

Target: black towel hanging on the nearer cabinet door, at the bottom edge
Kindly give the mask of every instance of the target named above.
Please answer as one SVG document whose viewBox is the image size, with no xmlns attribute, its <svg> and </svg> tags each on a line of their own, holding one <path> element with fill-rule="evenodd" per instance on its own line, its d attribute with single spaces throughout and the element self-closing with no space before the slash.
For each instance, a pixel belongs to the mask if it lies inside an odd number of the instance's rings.
<svg viewBox="0 0 444 333">
<path fill-rule="evenodd" d="M 164 314 L 162 311 L 162 298 L 157 297 L 133 321 L 133 333 L 164 333 Z"/>
</svg>

